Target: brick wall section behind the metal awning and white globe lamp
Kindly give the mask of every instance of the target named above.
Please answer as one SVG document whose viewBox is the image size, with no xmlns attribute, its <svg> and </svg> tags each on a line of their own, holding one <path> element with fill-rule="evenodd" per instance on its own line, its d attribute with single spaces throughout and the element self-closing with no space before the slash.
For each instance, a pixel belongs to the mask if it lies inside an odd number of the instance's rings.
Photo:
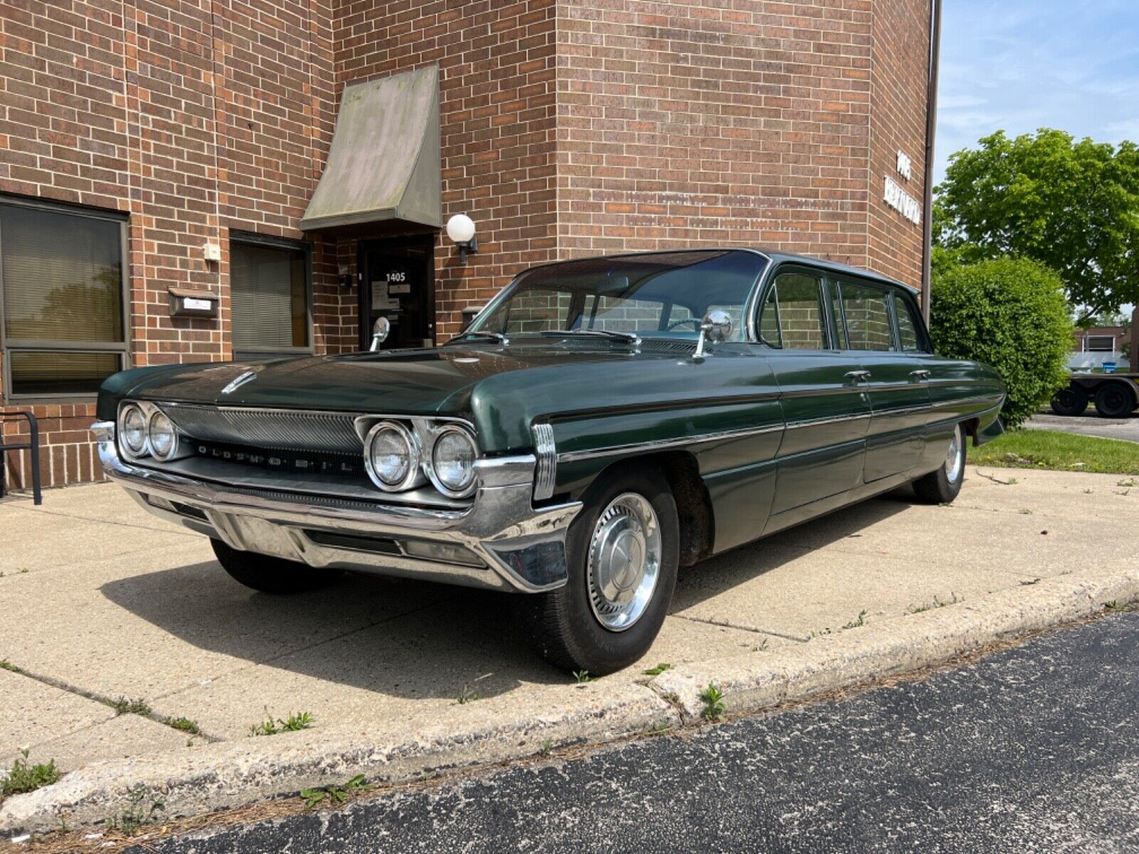
<svg viewBox="0 0 1139 854">
<path fill-rule="evenodd" d="M 523 266 L 557 257 L 555 2 L 349 0 L 337 82 L 440 66 L 443 220 L 466 213 L 478 252 L 465 266 L 437 238 L 436 335 L 459 329 Z"/>
</svg>

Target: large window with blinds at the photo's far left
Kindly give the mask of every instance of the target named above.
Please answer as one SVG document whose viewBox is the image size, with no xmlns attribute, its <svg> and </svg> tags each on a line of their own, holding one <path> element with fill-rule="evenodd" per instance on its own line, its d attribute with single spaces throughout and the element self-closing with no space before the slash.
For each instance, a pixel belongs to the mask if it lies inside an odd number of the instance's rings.
<svg viewBox="0 0 1139 854">
<path fill-rule="evenodd" d="M 90 395 L 123 367 L 123 221 L 0 202 L 5 396 Z"/>
</svg>

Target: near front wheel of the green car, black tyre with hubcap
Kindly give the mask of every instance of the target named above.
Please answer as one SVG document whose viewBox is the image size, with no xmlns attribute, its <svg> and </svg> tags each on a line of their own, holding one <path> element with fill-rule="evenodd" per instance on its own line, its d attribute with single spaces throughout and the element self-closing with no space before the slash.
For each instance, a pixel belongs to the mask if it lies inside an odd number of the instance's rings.
<svg viewBox="0 0 1139 854">
<path fill-rule="evenodd" d="M 664 477 L 647 468 L 603 475 L 566 532 L 565 586 L 519 599 L 540 655 L 598 676 L 645 655 L 672 600 L 679 539 Z"/>
</svg>

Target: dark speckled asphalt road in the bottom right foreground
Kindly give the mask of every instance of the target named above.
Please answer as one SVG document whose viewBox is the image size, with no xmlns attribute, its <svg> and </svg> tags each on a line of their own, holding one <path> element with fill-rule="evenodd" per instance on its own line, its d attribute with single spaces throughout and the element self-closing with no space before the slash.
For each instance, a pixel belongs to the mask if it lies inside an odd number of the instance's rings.
<svg viewBox="0 0 1139 854">
<path fill-rule="evenodd" d="M 146 851 L 1139 851 L 1139 614 L 844 701 Z"/>
</svg>

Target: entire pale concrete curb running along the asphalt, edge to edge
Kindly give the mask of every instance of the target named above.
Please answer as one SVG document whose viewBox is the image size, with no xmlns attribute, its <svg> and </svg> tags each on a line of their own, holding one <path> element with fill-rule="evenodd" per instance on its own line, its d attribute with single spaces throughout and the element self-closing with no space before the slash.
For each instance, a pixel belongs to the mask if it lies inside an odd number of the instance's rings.
<svg viewBox="0 0 1139 854">
<path fill-rule="evenodd" d="M 995 641 L 1091 616 L 1105 602 L 1139 598 L 1139 569 L 1041 581 L 973 602 L 871 623 L 809 643 L 682 665 L 647 687 L 549 685 L 519 707 L 509 696 L 456 706 L 429 722 L 364 731 L 320 729 L 208 745 L 190 756 L 150 755 L 93 763 L 59 782 L 9 798 L 0 831 L 48 831 L 97 823 L 130 805 L 139 785 L 161 797 L 163 818 L 249 804 L 364 774 L 409 782 L 532 756 L 544 747 L 604 744 L 700 720 L 699 692 L 714 682 L 734 714 L 771 708 L 947 662 Z M 145 806 L 146 804 L 144 804 Z"/>
</svg>

